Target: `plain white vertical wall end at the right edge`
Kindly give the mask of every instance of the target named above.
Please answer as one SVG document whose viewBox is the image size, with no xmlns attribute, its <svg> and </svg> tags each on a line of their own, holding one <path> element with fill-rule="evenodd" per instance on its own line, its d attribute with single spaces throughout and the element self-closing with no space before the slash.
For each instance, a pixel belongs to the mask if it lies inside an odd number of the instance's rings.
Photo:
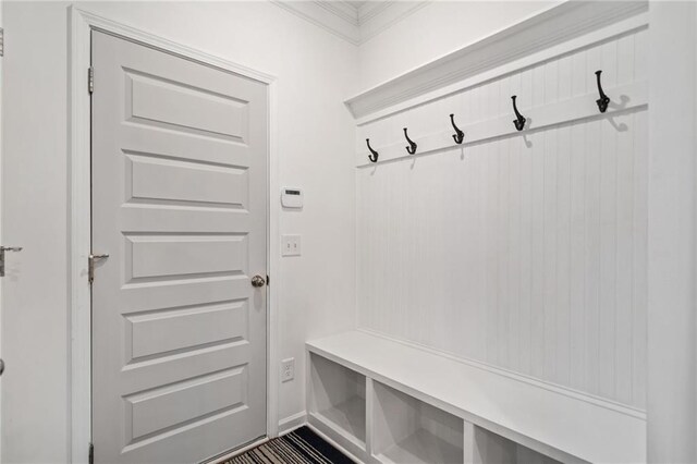
<svg viewBox="0 0 697 464">
<path fill-rule="evenodd" d="M 648 456 L 697 462 L 697 4 L 650 4 Z"/>
</svg>

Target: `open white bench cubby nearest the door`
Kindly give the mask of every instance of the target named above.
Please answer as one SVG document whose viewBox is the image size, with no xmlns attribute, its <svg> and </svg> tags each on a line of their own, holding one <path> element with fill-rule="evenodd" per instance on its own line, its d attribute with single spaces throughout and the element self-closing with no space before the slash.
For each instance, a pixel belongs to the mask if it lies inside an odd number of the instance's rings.
<svg viewBox="0 0 697 464">
<path fill-rule="evenodd" d="M 365 449 L 366 378 L 310 354 L 309 412 L 344 438 Z"/>
</svg>

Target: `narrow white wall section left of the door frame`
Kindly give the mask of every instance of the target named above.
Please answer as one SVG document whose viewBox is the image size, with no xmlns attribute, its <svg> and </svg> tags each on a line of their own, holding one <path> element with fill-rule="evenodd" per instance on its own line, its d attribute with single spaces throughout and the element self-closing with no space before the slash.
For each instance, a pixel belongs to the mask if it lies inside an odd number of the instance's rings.
<svg viewBox="0 0 697 464">
<path fill-rule="evenodd" d="M 66 62 L 65 40 L 50 39 L 65 37 L 65 16 L 35 7 L 3 5 L 15 45 L 3 58 L 2 235 L 24 246 L 2 278 L 1 459 L 10 463 L 23 453 L 62 460 L 68 444 Z"/>
</svg>

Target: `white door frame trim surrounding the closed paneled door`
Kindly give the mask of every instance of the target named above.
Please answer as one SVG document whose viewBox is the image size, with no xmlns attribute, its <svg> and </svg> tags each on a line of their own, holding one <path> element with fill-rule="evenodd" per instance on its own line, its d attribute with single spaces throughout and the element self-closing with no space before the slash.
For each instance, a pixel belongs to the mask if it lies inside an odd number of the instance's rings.
<svg viewBox="0 0 697 464">
<path fill-rule="evenodd" d="M 140 42 L 166 52 L 234 72 L 267 85 L 268 108 L 268 203 L 267 203 L 267 271 L 277 277 L 280 256 L 279 157 L 276 113 L 276 77 L 231 61 L 195 50 L 169 39 L 111 21 L 88 11 L 69 9 L 69 302 L 70 308 L 70 456 L 72 463 L 88 462 L 91 440 L 91 316 L 90 289 L 87 282 L 87 259 L 90 251 L 90 100 L 87 70 L 90 65 L 90 32 L 102 30 Z M 99 87 L 99 70 L 95 71 L 95 87 Z M 272 282 L 278 282 L 273 279 Z M 267 437 L 276 437 L 278 418 L 277 321 L 278 285 L 268 286 L 267 303 Z"/>
</svg>

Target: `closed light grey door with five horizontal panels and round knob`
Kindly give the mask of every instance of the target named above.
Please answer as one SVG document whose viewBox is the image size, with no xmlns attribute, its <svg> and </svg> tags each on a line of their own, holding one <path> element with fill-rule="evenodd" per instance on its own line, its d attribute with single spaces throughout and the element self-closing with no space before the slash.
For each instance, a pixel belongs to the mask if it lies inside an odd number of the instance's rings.
<svg viewBox="0 0 697 464">
<path fill-rule="evenodd" d="M 91 41 L 95 461 L 199 462 L 266 434 L 267 87 Z"/>
</svg>

